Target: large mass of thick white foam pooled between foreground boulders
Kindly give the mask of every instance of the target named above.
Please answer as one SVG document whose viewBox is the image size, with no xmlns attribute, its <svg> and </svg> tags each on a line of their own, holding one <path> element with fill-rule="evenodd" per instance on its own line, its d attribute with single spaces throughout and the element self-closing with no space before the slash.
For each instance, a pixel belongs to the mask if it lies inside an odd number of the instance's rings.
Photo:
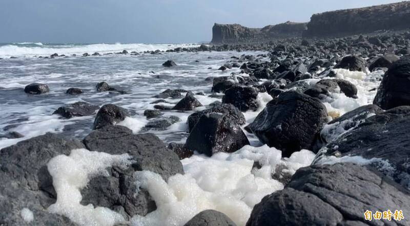
<svg viewBox="0 0 410 226">
<path fill-rule="evenodd" d="M 226 214 L 238 226 L 245 225 L 255 204 L 265 195 L 283 189 L 272 179 L 278 165 L 288 165 L 293 174 L 309 166 L 314 154 L 307 150 L 281 158 L 281 151 L 268 146 L 245 146 L 235 153 L 212 157 L 194 155 L 183 159 L 185 175 L 171 176 L 166 182 L 149 171 L 135 173 L 137 185 L 155 200 L 157 210 L 147 216 L 134 216 L 132 225 L 182 226 L 204 210 Z M 260 169 L 254 168 L 258 162 Z"/>
</svg>

